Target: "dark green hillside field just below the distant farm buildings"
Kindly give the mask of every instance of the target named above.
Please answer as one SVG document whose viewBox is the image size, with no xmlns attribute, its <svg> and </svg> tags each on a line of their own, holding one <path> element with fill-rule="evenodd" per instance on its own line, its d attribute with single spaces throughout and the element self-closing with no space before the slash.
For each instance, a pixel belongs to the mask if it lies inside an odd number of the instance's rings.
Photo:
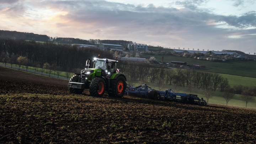
<svg viewBox="0 0 256 144">
<path fill-rule="evenodd" d="M 206 68 L 202 68 L 202 71 L 209 71 L 221 74 L 239 75 L 256 78 L 256 62 L 255 61 L 243 61 L 243 60 L 230 60 L 228 62 L 209 62 L 206 60 L 197 60 L 186 57 L 179 57 L 176 55 L 151 55 L 143 54 L 141 58 L 150 58 L 154 56 L 156 60 L 162 60 L 164 62 L 187 62 L 187 64 L 206 65 Z"/>
</svg>

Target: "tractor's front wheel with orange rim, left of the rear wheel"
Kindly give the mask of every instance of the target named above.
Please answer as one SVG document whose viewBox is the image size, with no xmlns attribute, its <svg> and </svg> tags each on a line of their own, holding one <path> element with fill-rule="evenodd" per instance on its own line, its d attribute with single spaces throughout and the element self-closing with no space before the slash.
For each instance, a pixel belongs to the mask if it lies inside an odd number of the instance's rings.
<svg viewBox="0 0 256 144">
<path fill-rule="evenodd" d="M 91 96 L 103 96 L 106 90 L 106 83 L 102 78 L 92 79 L 89 87 Z"/>
</svg>

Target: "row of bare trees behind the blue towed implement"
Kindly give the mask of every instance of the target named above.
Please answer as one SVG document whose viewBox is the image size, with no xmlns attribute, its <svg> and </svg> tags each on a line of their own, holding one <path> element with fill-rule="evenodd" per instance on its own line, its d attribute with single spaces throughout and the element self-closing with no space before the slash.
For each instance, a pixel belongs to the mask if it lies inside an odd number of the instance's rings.
<svg viewBox="0 0 256 144">
<path fill-rule="evenodd" d="M 196 71 L 194 69 L 168 69 L 145 63 L 120 61 L 119 68 L 128 79 L 134 81 L 146 80 L 152 83 L 164 83 L 182 87 L 193 86 L 196 89 L 223 92 L 229 87 L 228 79 L 218 73 Z"/>
</svg>

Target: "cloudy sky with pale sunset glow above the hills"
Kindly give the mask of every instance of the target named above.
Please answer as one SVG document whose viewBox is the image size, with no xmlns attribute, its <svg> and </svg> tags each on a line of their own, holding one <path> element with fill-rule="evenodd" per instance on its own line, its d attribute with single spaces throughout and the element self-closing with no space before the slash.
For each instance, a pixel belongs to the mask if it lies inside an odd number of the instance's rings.
<svg viewBox="0 0 256 144">
<path fill-rule="evenodd" d="M 0 30 L 256 52 L 255 0 L 0 0 Z"/>
</svg>

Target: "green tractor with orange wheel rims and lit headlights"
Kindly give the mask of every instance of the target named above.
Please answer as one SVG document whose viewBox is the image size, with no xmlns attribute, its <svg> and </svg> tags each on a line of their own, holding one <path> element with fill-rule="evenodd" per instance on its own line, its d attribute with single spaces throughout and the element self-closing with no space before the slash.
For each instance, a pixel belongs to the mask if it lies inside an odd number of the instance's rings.
<svg viewBox="0 0 256 144">
<path fill-rule="evenodd" d="M 117 57 L 116 60 L 94 58 L 93 63 L 91 68 L 91 59 L 88 59 L 81 74 L 70 78 L 69 91 L 82 94 L 84 89 L 89 89 L 92 96 L 102 96 L 107 91 L 109 96 L 122 97 L 127 84 L 126 77 L 117 69 Z"/>
</svg>

